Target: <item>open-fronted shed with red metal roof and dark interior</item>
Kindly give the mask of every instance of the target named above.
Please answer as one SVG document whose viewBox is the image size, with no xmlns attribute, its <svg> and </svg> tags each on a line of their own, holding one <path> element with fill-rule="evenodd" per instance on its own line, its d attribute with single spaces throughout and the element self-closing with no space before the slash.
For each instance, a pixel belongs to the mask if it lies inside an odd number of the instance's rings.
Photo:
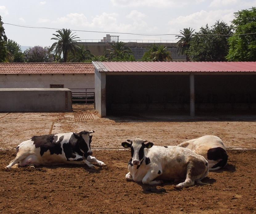
<svg viewBox="0 0 256 214">
<path fill-rule="evenodd" d="M 256 62 L 93 62 L 100 115 L 256 110 Z"/>
</svg>

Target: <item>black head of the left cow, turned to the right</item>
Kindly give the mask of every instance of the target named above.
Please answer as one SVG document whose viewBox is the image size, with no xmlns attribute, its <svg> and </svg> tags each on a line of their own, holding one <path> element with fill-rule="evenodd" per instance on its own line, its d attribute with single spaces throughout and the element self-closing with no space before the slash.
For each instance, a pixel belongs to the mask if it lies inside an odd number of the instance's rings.
<svg viewBox="0 0 256 214">
<path fill-rule="evenodd" d="M 91 151 L 91 133 L 94 133 L 94 131 L 82 131 L 79 133 L 73 133 L 74 137 L 78 141 L 79 149 L 83 153 L 84 157 L 88 157 L 88 155 L 92 155 Z"/>
</svg>

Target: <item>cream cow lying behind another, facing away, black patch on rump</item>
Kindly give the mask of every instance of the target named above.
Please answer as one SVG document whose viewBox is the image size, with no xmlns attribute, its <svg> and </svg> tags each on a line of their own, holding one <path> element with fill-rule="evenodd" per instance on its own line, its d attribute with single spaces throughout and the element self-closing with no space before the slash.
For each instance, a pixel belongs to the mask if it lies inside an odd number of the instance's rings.
<svg viewBox="0 0 256 214">
<path fill-rule="evenodd" d="M 217 170 L 226 166 L 228 155 L 220 138 L 214 135 L 205 135 L 196 139 L 182 142 L 178 146 L 191 149 L 204 156 L 209 163 L 209 170 Z"/>
</svg>

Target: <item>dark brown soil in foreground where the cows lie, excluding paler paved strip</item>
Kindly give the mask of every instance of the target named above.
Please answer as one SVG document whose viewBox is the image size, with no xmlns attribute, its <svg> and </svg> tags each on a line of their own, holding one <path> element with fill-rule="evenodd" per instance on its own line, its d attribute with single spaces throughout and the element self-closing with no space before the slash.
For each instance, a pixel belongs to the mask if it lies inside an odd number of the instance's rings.
<svg viewBox="0 0 256 214">
<path fill-rule="evenodd" d="M 74 165 L 4 169 L 14 151 L 0 151 L 0 213 L 256 213 L 256 152 L 229 150 L 224 170 L 175 190 L 172 182 L 126 182 L 130 152 L 94 151 L 107 167 Z"/>
</svg>

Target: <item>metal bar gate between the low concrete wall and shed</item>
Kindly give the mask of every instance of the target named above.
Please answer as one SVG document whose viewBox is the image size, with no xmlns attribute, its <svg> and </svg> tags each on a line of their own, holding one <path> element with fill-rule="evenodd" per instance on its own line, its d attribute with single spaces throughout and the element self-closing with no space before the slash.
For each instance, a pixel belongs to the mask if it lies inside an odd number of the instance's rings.
<svg viewBox="0 0 256 214">
<path fill-rule="evenodd" d="M 72 91 L 72 105 L 86 105 L 87 109 L 95 109 L 94 89 L 70 89 Z M 74 108 L 73 108 L 74 109 Z"/>
</svg>

